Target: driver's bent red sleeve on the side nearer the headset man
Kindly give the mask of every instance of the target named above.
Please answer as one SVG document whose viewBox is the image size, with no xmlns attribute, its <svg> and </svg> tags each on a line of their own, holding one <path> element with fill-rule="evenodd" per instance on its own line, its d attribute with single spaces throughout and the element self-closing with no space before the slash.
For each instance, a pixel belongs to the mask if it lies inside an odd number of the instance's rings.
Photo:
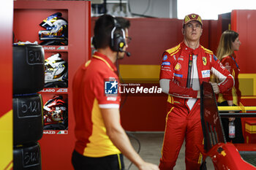
<svg viewBox="0 0 256 170">
<path fill-rule="evenodd" d="M 175 59 L 169 53 L 163 53 L 160 71 L 160 87 L 162 92 L 180 98 L 197 98 L 197 90 L 182 87 L 175 79 L 174 61 Z"/>
</svg>

